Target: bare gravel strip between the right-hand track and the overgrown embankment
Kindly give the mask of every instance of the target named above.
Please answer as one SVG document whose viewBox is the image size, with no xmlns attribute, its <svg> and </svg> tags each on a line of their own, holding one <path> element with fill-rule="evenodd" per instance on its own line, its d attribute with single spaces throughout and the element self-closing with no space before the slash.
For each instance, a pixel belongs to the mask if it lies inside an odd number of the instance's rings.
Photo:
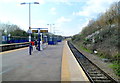
<svg viewBox="0 0 120 83">
<path fill-rule="evenodd" d="M 78 46 L 74 45 L 77 49 Z M 116 76 L 113 69 L 109 67 L 110 62 L 104 62 L 101 58 L 98 56 L 87 53 L 82 49 L 78 49 L 83 55 L 85 55 L 87 58 L 89 58 L 93 63 L 95 63 L 98 67 L 100 67 L 105 73 L 107 73 L 109 76 L 114 78 L 116 81 L 120 82 L 120 77 Z"/>
</svg>

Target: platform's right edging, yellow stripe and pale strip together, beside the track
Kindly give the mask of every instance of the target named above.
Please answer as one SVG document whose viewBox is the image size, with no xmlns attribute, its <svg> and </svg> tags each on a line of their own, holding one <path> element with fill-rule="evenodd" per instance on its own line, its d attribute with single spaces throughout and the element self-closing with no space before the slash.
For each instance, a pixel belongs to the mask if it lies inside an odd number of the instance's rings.
<svg viewBox="0 0 120 83">
<path fill-rule="evenodd" d="M 61 81 L 89 82 L 87 76 L 68 47 L 67 41 L 64 41 L 61 70 Z"/>
</svg>

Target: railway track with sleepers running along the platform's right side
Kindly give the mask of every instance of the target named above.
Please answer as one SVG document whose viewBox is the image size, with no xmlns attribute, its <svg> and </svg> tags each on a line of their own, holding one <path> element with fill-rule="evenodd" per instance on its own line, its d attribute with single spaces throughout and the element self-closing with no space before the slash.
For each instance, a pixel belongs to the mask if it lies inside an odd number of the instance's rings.
<svg viewBox="0 0 120 83">
<path fill-rule="evenodd" d="M 90 82 L 92 83 L 117 83 L 108 74 L 102 71 L 98 66 L 92 63 L 87 57 L 85 57 L 81 52 L 79 52 L 69 41 L 68 45 L 77 59 L 78 63 L 88 76 Z"/>
</svg>

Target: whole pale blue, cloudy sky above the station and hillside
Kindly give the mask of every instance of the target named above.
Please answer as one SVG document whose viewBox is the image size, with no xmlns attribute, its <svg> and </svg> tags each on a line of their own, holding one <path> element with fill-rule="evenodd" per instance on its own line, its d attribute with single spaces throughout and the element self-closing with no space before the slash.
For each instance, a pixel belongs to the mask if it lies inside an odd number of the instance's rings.
<svg viewBox="0 0 120 83">
<path fill-rule="evenodd" d="M 40 4 L 31 5 L 31 27 L 50 28 L 47 24 L 55 24 L 51 32 L 69 36 L 79 33 L 89 20 L 119 0 L 0 0 L 0 22 L 16 24 L 27 31 L 29 6 L 20 3 L 34 1 Z"/>
</svg>

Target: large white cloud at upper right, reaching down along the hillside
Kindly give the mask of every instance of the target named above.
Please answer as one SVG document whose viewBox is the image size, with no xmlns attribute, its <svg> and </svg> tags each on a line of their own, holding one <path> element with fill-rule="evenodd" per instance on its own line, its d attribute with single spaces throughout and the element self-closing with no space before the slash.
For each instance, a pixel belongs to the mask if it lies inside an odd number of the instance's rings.
<svg viewBox="0 0 120 83">
<path fill-rule="evenodd" d="M 72 13 L 73 16 L 84 17 L 84 23 L 79 25 L 80 31 L 88 25 L 91 19 L 97 17 L 100 13 L 104 13 L 115 1 L 118 0 L 87 0 L 82 9 Z"/>
</svg>

